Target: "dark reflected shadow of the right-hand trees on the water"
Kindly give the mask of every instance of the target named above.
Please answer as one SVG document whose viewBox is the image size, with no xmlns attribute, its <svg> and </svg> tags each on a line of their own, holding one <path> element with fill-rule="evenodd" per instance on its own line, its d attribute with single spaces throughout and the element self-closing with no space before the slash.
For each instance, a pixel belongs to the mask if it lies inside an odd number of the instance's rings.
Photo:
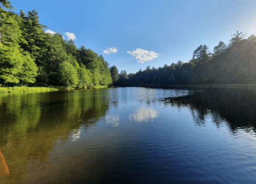
<svg viewBox="0 0 256 184">
<path fill-rule="evenodd" d="M 161 101 L 175 106 L 188 106 L 198 124 L 204 124 L 210 114 L 216 126 L 223 120 L 230 130 L 253 128 L 256 132 L 256 89 L 247 88 L 193 88 L 193 94 L 167 97 Z"/>
</svg>

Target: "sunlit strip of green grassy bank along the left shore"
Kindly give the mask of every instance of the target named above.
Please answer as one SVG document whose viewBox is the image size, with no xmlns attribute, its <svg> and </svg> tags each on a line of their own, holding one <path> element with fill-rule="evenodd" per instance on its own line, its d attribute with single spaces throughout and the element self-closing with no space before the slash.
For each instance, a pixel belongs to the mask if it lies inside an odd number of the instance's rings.
<svg viewBox="0 0 256 184">
<path fill-rule="evenodd" d="M 0 87 L 0 94 L 4 93 L 36 93 L 46 91 L 56 91 L 59 89 L 49 87 Z"/>
</svg>

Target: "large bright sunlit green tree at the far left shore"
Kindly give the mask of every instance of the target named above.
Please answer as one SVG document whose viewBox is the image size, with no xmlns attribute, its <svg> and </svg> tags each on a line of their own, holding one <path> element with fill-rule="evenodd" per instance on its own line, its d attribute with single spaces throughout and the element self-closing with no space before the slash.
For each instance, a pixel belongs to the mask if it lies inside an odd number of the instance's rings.
<svg viewBox="0 0 256 184">
<path fill-rule="evenodd" d="M 17 83 L 34 83 L 37 66 L 29 53 L 20 48 L 19 43 L 26 44 L 21 35 L 17 15 L 0 9 L 2 41 L 0 42 L 0 78 L 1 82 L 13 86 Z"/>
</svg>

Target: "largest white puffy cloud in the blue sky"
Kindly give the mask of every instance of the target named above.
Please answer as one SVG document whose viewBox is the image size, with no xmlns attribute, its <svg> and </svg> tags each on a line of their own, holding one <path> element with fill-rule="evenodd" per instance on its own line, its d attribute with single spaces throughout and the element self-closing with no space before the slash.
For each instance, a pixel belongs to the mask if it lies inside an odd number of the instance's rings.
<svg viewBox="0 0 256 184">
<path fill-rule="evenodd" d="M 134 56 L 137 59 L 137 62 L 140 62 L 140 63 L 153 60 L 153 58 L 156 58 L 159 56 L 158 53 L 155 53 L 153 51 L 143 50 L 141 48 L 137 48 L 136 51 L 133 51 L 133 52 L 127 51 L 127 53 Z"/>
</svg>

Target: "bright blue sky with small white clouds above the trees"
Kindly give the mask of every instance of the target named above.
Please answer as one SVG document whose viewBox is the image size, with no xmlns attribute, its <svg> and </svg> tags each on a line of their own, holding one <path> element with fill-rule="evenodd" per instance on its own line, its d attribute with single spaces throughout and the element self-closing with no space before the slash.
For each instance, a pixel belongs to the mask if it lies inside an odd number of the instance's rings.
<svg viewBox="0 0 256 184">
<path fill-rule="evenodd" d="M 38 11 L 45 31 L 102 54 L 119 72 L 188 62 L 201 44 L 213 52 L 237 30 L 256 35 L 256 1 L 9 1 L 14 12 Z"/>
</svg>

